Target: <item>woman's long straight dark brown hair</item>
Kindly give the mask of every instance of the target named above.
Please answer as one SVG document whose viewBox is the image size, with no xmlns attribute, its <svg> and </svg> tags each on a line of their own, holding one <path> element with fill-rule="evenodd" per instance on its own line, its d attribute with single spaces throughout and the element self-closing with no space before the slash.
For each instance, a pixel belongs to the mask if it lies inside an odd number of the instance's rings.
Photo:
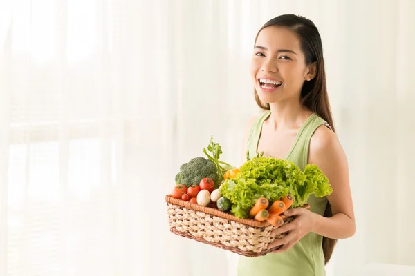
<svg viewBox="0 0 415 276">
<path fill-rule="evenodd" d="M 322 119 L 324 119 L 329 126 L 331 126 L 331 129 L 335 131 L 333 118 L 331 117 L 329 96 L 327 95 L 322 39 L 317 27 L 314 25 L 313 21 L 306 19 L 305 17 L 294 14 L 284 14 L 271 19 L 261 27 L 257 33 L 257 37 L 255 37 L 255 44 L 257 43 L 259 32 L 269 26 L 283 26 L 295 32 L 295 34 L 299 37 L 301 49 L 306 57 L 306 64 L 311 65 L 311 63 L 317 63 L 315 77 L 311 79 L 311 81 L 304 81 L 304 85 L 301 90 L 302 104 L 312 112 L 315 112 L 317 115 L 322 117 Z M 259 107 L 264 110 L 270 110 L 270 105 L 268 103 L 262 103 L 259 99 L 257 90 L 255 90 L 255 101 L 257 101 Z M 327 202 L 324 217 L 331 216 L 331 206 L 329 202 Z M 336 242 L 336 239 L 323 237 L 322 248 L 325 264 L 329 262 Z"/>
</svg>

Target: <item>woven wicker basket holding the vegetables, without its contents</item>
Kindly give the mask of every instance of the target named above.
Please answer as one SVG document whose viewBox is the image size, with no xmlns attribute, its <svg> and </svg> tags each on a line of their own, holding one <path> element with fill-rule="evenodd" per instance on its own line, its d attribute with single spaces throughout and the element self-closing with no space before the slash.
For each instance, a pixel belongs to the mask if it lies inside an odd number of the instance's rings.
<svg viewBox="0 0 415 276">
<path fill-rule="evenodd" d="M 268 245 L 286 234 L 271 235 L 277 227 L 267 221 L 238 219 L 219 209 L 192 204 L 166 195 L 170 231 L 176 235 L 210 244 L 247 257 L 266 255 L 277 248 Z M 304 208 L 310 206 L 306 204 Z M 284 224 L 293 217 L 281 215 Z"/>
</svg>

